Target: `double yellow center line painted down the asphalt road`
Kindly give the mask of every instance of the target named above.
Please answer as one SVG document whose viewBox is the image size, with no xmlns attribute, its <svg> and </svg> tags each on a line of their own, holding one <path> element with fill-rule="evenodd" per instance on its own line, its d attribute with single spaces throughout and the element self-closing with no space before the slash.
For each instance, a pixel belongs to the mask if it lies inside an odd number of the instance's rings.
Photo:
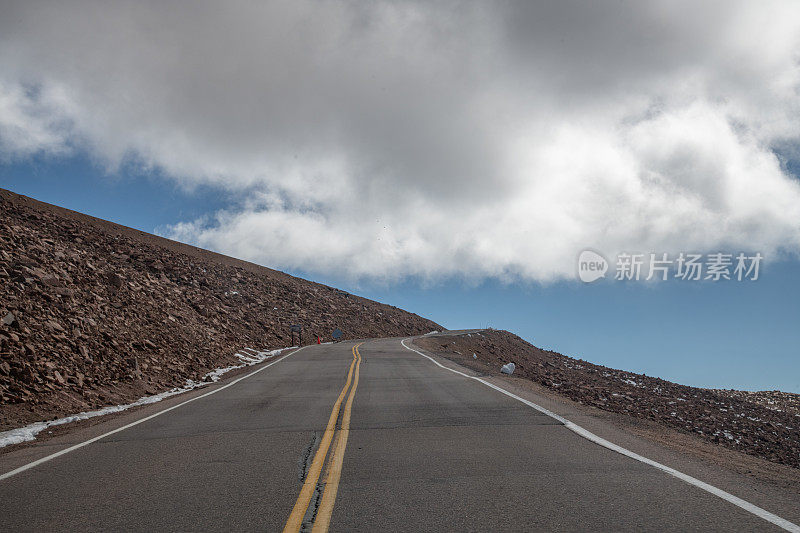
<svg viewBox="0 0 800 533">
<path fill-rule="evenodd" d="M 353 346 L 353 361 L 350 363 L 350 370 L 347 373 L 347 382 L 344 384 L 342 392 L 339 393 L 336 403 L 333 404 L 331 416 L 328 418 L 328 425 L 325 428 L 325 434 L 322 436 L 322 441 L 319 444 L 317 453 L 314 455 L 314 460 L 311 462 L 311 468 L 308 469 L 308 475 L 303 483 L 303 488 L 300 489 L 300 495 L 297 497 L 297 502 L 294 504 L 292 514 L 286 521 L 286 526 L 283 528 L 284 533 L 296 533 L 300 531 L 303 525 L 303 518 L 308 511 L 308 506 L 311 503 L 311 498 L 314 496 L 314 491 L 319 482 L 319 476 L 322 473 L 322 467 L 325 464 L 325 458 L 328 456 L 328 449 L 330 448 L 331 441 L 333 440 L 334 433 L 336 433 L 336 421 L 339 419 L 339 409 L 342 406 L 342 400 L 347 389 L 352 382 L 353 388 L 350 389 L 350 395 L 347 397 L 347 403 L 344 407 L 342 414 L 342 424 L 339 434 L 336 439 L 333 453 L 328 461 L 328 475 L 325 480 L 325 490 L 322 493 L 322 501 L 317 509 L 317 515 L 314 520 L 314 527 L 312 532 L 325 532 L 328 531 L 328 526 L 331 522 L 331 514 L 333 513 L 333 504 L 336 501 L 336 493 L 339 490 L 339 479 L 342 476 L 342 463 L 344 462 L 344 451 L 347 447 L 347 437 L 350 435 L 350 411 L 353 407 L 353 397 L 356 394 L 356 387 L 358 387 L 358 374 L 361 368 L 361 354 L 358 347 L 363 343 Z M 355 369 L 355 377 L 353 376 L 353 369 Z"/>
</svg>

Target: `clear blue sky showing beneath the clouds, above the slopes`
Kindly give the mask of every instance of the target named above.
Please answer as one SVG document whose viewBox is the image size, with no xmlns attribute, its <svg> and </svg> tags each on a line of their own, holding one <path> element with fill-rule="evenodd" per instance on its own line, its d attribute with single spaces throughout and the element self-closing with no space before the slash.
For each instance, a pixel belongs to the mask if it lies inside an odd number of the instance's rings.
<svg viewBox="0 0 800 533">
<path fill-rule="evenodd" d="M 236 197 L 159 176 L 108 175 L 81 157 L 0 165 L 0 186 L 154 232 Z M 357 258 L 354 258 L 357 260 Z M 270 265 L 266 265 L 270 266 Z M 290 271 L 431 318 L 507 329 L 542 348 L 687 385 L 800 392 L 800 263 L 767 263 L 755 282 L 353 282 Z"/>
</svg>

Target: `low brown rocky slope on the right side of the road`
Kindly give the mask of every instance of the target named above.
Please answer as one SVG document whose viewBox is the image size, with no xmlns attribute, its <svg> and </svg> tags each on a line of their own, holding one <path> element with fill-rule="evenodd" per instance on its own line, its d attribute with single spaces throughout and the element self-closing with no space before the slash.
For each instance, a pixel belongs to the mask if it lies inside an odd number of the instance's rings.
<svg viewBox="0 0 800 533">
<path fill-rule="evenodd" d="M 513 362 L 514 376 L 571 400 L 800 468 L 800 394 L 688 387 L 542 350 L 507 331 L 423 337 L 415 343 L 481 373 L 499 373 L 501 365 Z"/>
</svg>

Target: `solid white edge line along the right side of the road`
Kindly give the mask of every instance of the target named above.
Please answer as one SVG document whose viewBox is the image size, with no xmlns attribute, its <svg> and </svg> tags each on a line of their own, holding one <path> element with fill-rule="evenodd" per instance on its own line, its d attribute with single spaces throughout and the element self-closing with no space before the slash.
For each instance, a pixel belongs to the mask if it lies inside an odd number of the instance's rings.
<svg viewBox="0 0 800 533">
<path fill-rule="evenodd" d="M 599 444 L 600 446 L 603 446 L 604 448 L 608 448 L 609 450 L 613 450 L 613 451 L 615 451 L 617 453 L 620 453 L 622 455 L 630 457 L 631 459 L 635 459 L 635 460 L 637 460 L 637 461 L 639 461 L 641 463 L 644 463 L 644 464 L 650 465 L 650 466 L 652 466 L 654 468 L 657 468 L 657 469 L 661 470 L 662 472 L 666 472 L 667 474 L 669 474 L 671 476 L 674 476 L 674 477 L 680 479 L 681 481 L 685 481 L 686 483 L 688 483 L 690 485 L 694 485 L 695 487 L 697 487 L 699 489 L 702 489 L 702 490 L 704 490 L 706 492 L 709 492 L 709 493 L 713 494 L 714 496 L 718 496 L 719 498 L 722 498 L 723 500 L 725 500 L 727 502 L 730 502 L 733 505 L 744 509 L 748 513 L 752 513 L 752 514 L 756 515 L 759 518 L 763 518 L 767 522 L 775 524 L 776 526 L 778 526 L 780 528 L 783 528 L 786 531 L 792 531 L 793 533 L 800 533 L 800 526 L 798 526 L 797 524 L 795 524 L 793 522 L 790 522 L 790 521 L 786 520 L 785 518 L 781 518 L 780 516 L 778 516 L 776 514 L 772 514 L 769 511 L 766 511 L 766 510 L 762 509 L 761 507 L 758 507 L 757 505 L 753 505 L 752 503 L 750 503 L 748 501 L 745 501 L 745 500 L 743 500 L 741 498 L 738 498 L 738 497 L 734 496 L 733 494 L 725 492 L 724 490 L 719 489 L 719 488 L 717 488 L 717 487 L 715 487 L 713 485 L 709 485 L 708 483 L 700 481 L 697 478 L 693 478 L 692 476 L 690 476 L 688 474 L 684 474 L 683 472 L 679 472 L 679 471 L 675 470 L 674 468 L 670 468 L 670 467 L 668 467 L 666 465 L 662 465 L 659 462 L 653 461 L 652 459 L 648 459 L 647 457 L 641 456 L 638 453 L 634 453 L 634 452 L 632 452 L 632 451 L 630 451 L 630 450 L 628 450 L 626 448 L 623 448 L 622 446 L 614 444 L 613 442 L 609 442 L 609 441 L 607 441 L 606 439 L 604 439 L 602 437 L 598 437 L 597 435 L 595 435 L 591 431 L 582 428 L 581 426 L 575 424 L 574 422 L 570 422 L 566 418 L 564 418 L 562 416 L 559 416 L 559 415 L 553 413 L 552 411 L 549 411 L 549 410 L 545 409 L 541 405 L 537 405 L 537 404 L 535 404 L 533 402 L 530 402 L 530 401 L 528 401 L 528 400 L 526 400 L 524 398 L 520 398 L 516 394 L 512 394 L 512 393 L 508 392 L 507 390 L 498 387 L 497 385 L 489 383 L 488 381 L 485 381 L 485 380 L 483 380 L 483 379 L 481 379 L 479 377 L 470 376 L 470 375 L 465 374 L 463 372 L 459 372 L 458 370 L 454 370 L 452 368 L 448 368 L 448 367 L 444 366 L 443 364 L 439 363 L 434 358 L 432 358 L 432 357 L 430 357 L 428 355 L 425 355 L 424 353 L 420 352 L 419 350 L 415 350 L 414 348 L 409 347 L 406 344 L 406 341 L 410 340 L 410 339 L 411 339 L 411 337 L 409 337 L 408 339 L 403 339 L 403 340 L 400 341 L 400 344 L 402 344 L 403 347 L 406 348 L 407 350 L 411 350 L 412 352 L 416 352 L 419 355 L 421 355 L 422 357 L 425 357 L 426 359 L 430 359 L 434 364 L 436 364 L 437 366 L 440 366 L 441 368 L 444 368 L 445 370 L 449 370 L 450 372 L 454 372 L 456 374 L 464 376 L 465 378 L 474 379 L 475 381 L 479 381 L 479 382 L 483 383 L 484 385 L 486 385 L 487 387 L 491 387 L 492 389 L 494 389 L 494 390 L 496 390 L 498 392 L 501 392 L 501 393 L 505 394 L 506 396 L 510 396 L 511 398 L 514 398 L 515 400 L 519 400 L 520 402 L 524 403 L 525 405 L 527 405 L 529 407 L 533 407 L 537 411 L 540 411 L 540 412 L 546 414 L 549 417 L 555 418 L 556 420 L 558 420 L 559 422 L 564 424 L 564 426 L 567 429 L 569 429 L 570 431 L 572 431 L 574 433 L 577 433 L 581 437 L 583 437 L 583 438 L 585 438 L 587 440 L 590 440 L 590 441 L 594 442 L 595 444 Z"/>
</svg>

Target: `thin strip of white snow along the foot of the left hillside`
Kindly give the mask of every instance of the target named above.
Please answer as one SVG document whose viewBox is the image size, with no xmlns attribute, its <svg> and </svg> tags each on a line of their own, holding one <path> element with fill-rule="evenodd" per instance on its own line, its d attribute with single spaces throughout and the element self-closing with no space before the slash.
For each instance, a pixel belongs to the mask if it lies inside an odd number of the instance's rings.
<svg viewBox="0 0 800 533">
<path fill-rule="evenodd" d="M 251 348 L 245 348 L 244 349 L 245 353 L 236 354 L 236 357 L 238 357 L 239 360 L 242 362 L 241 364 L 212 370 L 211 372 L 203 376 L 202 381 L 192 381 L 190 379 L 187 379 L 186 384 L 183 387 L 176 387 L 174 389 L 162 392 L 160 394 L 154 394 L 152 396 L 143 396 L 142 398 L 139 398 L 138 400 L 131 403 L 126 403 L 122 405 L 110 405 L 108 407 L 103 407 L 102 409 L 98 409 L 96 411 L 84 411 L 82 413 L 65 416 L 63 418 L 58 418 L 56 420 L 47 420 L 45 422 L 34 422 L 33 424 L 29 424 L 25 427 L 10 429 L 8 431 L 0 431 L 0 448 L 3 448 L 5 446 L 10 446 L 12 444 L 19 444 L 20 442 L 28 442 L 35 440 L 36 435 L 38 435 L 45 429 L 51 428 L 53 426 L 60 426 L 62 424 L 69 424 L 71 422 L 87 420 L 89 418 L 94 418 L 96 416 L 119 413 L 120 411 L 125 411 L 127 409 L 130 409 L 131 407 L 138 407 L 140 405 L 147 405 L 151 403 L 160 402 L 164 398 L 169 398 L 170 396 L 175 396 L 176 394 L 181 394 L 196 389 L 198 387 L 202 387 L 203 385 L 208 385 L 209 382 L 216 383 L 217 381 L 220 380 L 223 374 L 226 374 L 231 370 L 236 370 L 239 368 L 244 368 L 246 366 L 252 366 L 258 363 L 263 363 L 267 359 L 278 355 L 283 350 L 289 350 L 291 348 L 295 348 L 295 346 L 292 346 L 290 348 L 278 348 L 277 350 L 268 350 L 266 352 L 259 352 L 258 350 L 253 350 Z"/>
</svg>

